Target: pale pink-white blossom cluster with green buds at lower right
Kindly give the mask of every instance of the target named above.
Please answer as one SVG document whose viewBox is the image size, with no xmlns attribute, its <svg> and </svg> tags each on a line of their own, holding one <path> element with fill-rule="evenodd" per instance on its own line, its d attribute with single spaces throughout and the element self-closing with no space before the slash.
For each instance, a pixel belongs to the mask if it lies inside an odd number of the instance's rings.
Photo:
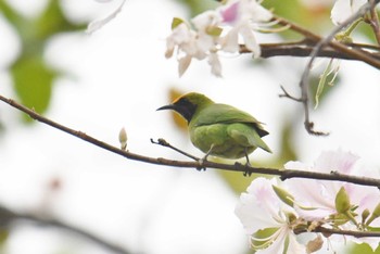
<svg viewBox="0 0 380 254">
<path fill-rule="evenodd" d="M 314 166 L 289 162 L 286 169 L 304 169 L 320 173 L 352 175 L 365 168 L 358 166 L 358 157 L 341 150 L 324 152 Z M 368 173 L 377 175 L 378 173 Z M 375 231 L 380 227 L 380 192 L 375 187 L 347 182 L 289 179 L 279 182 L 275 178 L 256 178 L 242 193 L 236 214 L 250 236 L 256 253 L 313 253 L 322 247 L 324 237 L 315 229 L 327 228 L 353 232 Z M 302 243 L 302 232 L 314 232 L 313 239 Z M 368 243 L 373 250 L 378 238 L 355 238 L 332 234 L 329 242 Z"/>
</svg>

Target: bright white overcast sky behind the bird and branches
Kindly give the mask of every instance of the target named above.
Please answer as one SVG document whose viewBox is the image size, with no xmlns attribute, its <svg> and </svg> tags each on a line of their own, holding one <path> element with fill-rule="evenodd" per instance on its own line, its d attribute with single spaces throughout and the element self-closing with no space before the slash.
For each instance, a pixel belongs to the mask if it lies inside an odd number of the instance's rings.
<svg viewBox="0 0 380 254">
<path fill-rule="evenodd" d="M 30 7 L 38 11 L 37 3 L 45 1 L 12 2 L 30 15 Z M 78 20 L 106 15 L 116 7 L 91 0 L 66 0 L 64 5 L 69 16 Z M 175 86 L 183 91 L 204 92 L 215 101 L 251 112 L 266 123 L 270 136 L 265 141 L 274 151 L 274 155 L 257 151 L 253 157 L 276 156 L 282 120 L 302 114 L 301 105 L 278 98 L 279 85 L 296 94 L 304 60 L 294 60 L 292 68 L 288 67 L 289 59 L 269 60 L 266 69 L 246 65 L 238 56 L 224 56 L 224 78 L 213 77 L 205 62 L 193 62 L 178 78 L 176 61 L 164 58 L 173 16 L 186 16 L 173 1 L 128 0 L 122 13 L 92 36 L 54 38 L 46 58 L 72 75 L 56 80 L 46 115 L 115 145 L 118 130 L 125 126 L 128 149 L 136 153 L 181 158 L 150 143 L 150 138 L 162 137 L 201 155 L 175 129 L 168 113 L 155 112 L 167 103 L 167 90 Z M 3 21 L 0 37 L 4 38 L 0 45 L 3 69 L 14 60 L 17 42 Z M 343 63 L 341 69 L 345 75 L 341 87 L 327 104 L 312 111 L 316 128 L 331 135 L 309 137 L 300 123 L 294 145 L 305 163 L 312 163 L 322 150 L 342 148 L 379 165 L 379 73 L 354 62 Z M 1 94 L 14 97 L 10 77 L 0 72 Z M 13 109 L 0 104 L 0 117 L 7 127 L 5 135 L 0 137 L 2 203 L 23 211 L 47 209 L 136 252 L 245 252 L 248 239 L 233 214 L 238 198 L 215 172 L 126 161 L 42 124 L 22 126 L 18 116 Z M 49 196 L 47 182 L 52 177 L 60 177 L 63 187 Z M 105 253 L 80 240 L 62 240 L 60 236 L 22 227 L 11 236 L 7 250 L 36 254 L 62 249 Z"/>
</svg>

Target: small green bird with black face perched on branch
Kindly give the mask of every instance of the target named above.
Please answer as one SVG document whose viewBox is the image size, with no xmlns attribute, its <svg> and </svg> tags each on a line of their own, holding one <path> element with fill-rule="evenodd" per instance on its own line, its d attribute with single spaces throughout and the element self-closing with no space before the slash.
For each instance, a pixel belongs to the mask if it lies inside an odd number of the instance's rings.
<svg viewBox="0 0 380 254">
<path fill-rule="evenodd" d="M 207 97 L 190 92 L 160 110 L 174 110 L 189 125 L 191 142 L 208 155 L 241 158 L 257 148 L 271 153 L 262 137 L 268 135 L 262 123 L 231 105 L 215 103 Z"/>
</svg>

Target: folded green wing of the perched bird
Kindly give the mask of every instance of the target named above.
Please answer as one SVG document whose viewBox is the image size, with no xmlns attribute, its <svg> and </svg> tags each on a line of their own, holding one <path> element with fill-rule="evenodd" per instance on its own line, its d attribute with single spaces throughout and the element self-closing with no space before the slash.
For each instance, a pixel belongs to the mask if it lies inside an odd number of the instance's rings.
<svg viewBox="0 0 380 254">
<path fill-rule="evenodd" d="M 194 117 L 195 126 L 212 124 L 252 124 L 261 137 L 268 135 L 262 123 L 246 112 L 240 111 L 227 104 L 215 103 L 202 110 L 202 113 Z"/>
</svg>

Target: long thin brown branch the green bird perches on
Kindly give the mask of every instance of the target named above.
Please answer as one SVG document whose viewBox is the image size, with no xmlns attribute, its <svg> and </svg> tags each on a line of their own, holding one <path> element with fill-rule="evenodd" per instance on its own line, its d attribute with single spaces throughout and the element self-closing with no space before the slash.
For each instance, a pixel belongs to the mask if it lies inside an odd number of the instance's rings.
<svg viewBox="0 0 380 254">
<path fill-rule="evenodd" d="M 241 173 L 246 173 L 249 175 L 253 173 L 263 174 L 263 175 L 275 175 L 275 176 L 279 176 L 282 180 L 290 179 L 290 178 L 307 178 L 307 179 L 344 181 L 344 182 L 352 182 L 352 183 L 363 185 L 363 186 L 373 186 L 373 187 L 380 188 L 380 179 L 338 174 L 334 172 L 333 168 L 331 168 L 331 174 L 324 174 L 324 173 L 317 173 L 317 172 L 304 172 L 304 170 L 292 170 L 292 169 L 284 170 L 284 169 L 278 169 L 278 168 L 252 167 L 250 165 L 242 165 L 239 163 L 231 165 L 231 164 L 215 163 L 215 162 L 210 162 L 204 160 L 188 162 L 188 161 L 168 160 L 163 157 L 144 156 L 144 155 L 131 153 L 129 151 L 125 151 L 117 147 L 100 141 L 89 135 L 86 135 L 85 132 L 71 129 L 1 94 L 0 94 L 0 100 L 24 112 L 25 114 L 29 115 L 31 118 L 40 123 L 49 125 L 55 129 L 62 130 L 76 138 L 83 139 L 96 147 L 99 147 L 101 149 L 104 149 L 106 151 L 113 152 L 115 154 L 122 155 L 126 158 L 134 160 L 134 161 L 162 165 L 162 166 L 197 168 L 197 169 L 215 168 L 215 169 L 221 169 L 221 170 L 241 172 Z"/>
</svg>

